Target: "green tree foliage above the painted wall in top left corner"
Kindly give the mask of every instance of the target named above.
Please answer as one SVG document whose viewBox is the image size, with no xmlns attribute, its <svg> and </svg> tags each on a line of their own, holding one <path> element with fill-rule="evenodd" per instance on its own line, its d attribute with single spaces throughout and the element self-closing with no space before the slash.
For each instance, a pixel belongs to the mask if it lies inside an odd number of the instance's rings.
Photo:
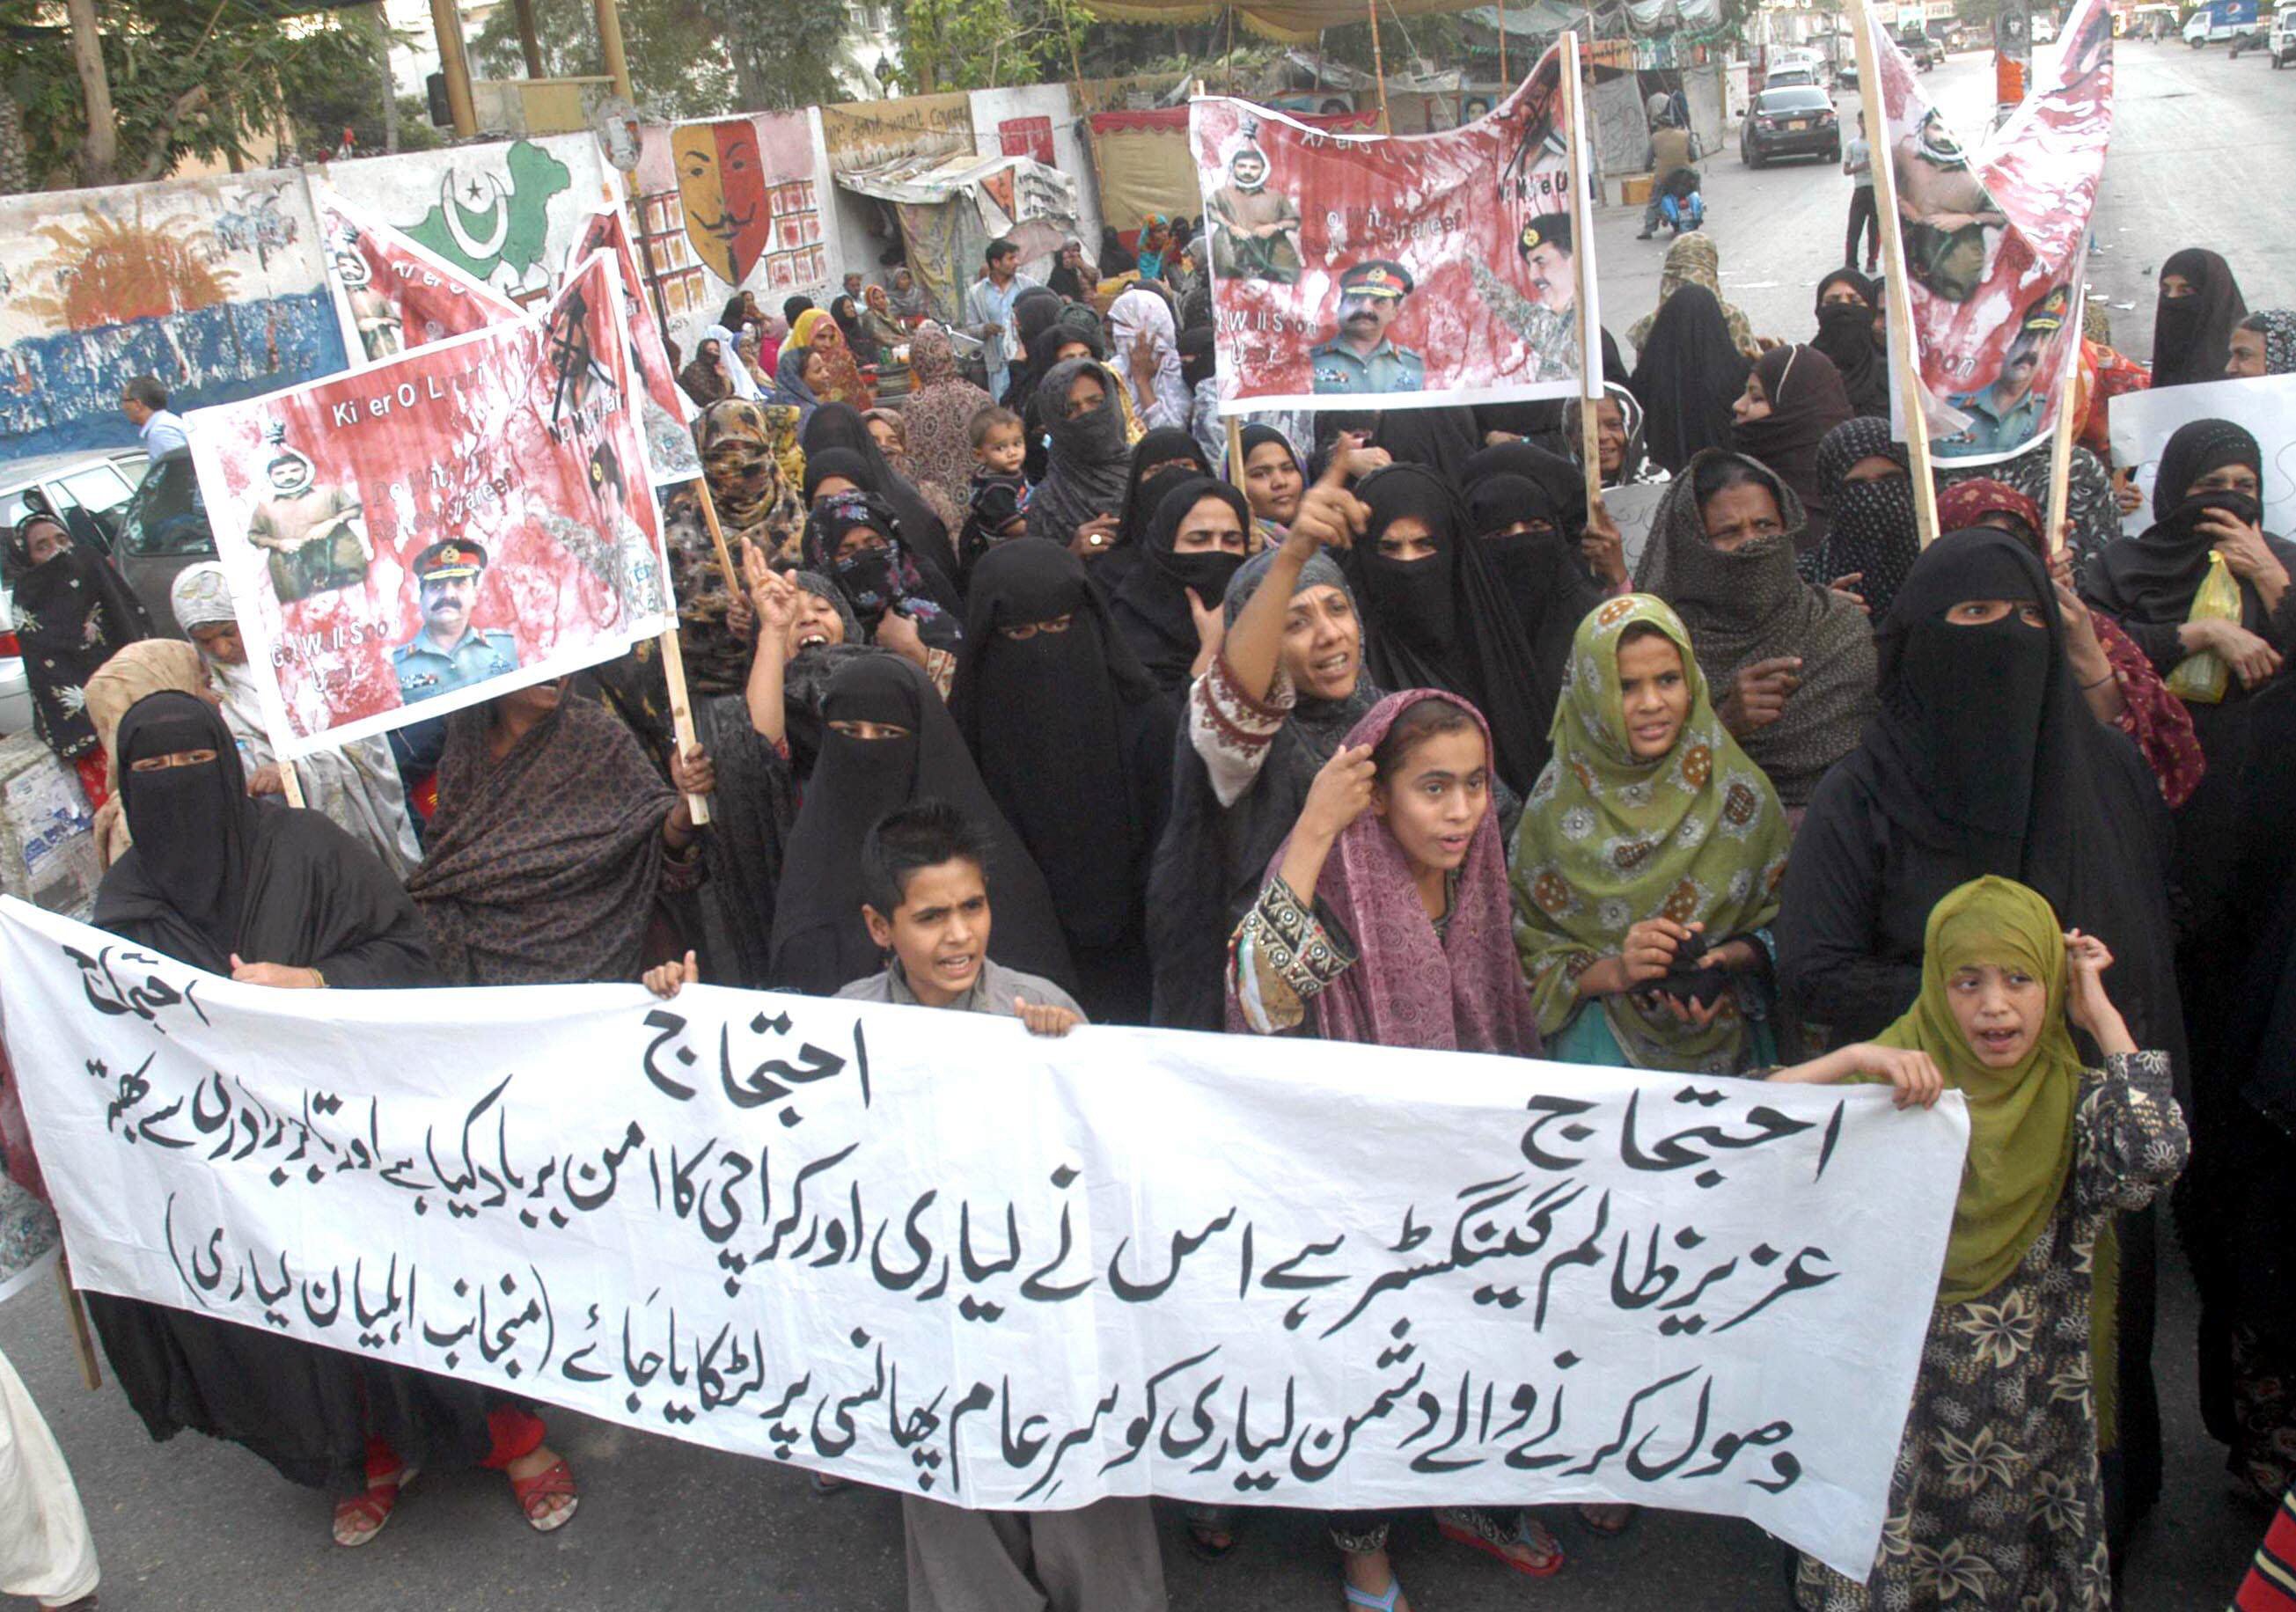
<svg viewBox="0 0 2296 1612">
<path fill-rule="evenodd" d="M 5 87 L 23 110 L 32 181 L 99 181 L 80 172 L 87 113 L 57 14 L 44 0 L 0 0 L 14 57 Z M 110 179 L 156 179 L 186 156 L 246 161 L 282 117 L 298 119 L 305 152 L 333 147 L 344 124 L 365 138 L 363 117 L 381 140 L 381 41 L 365 11 L 282 18 L 248 0 L 96 0 L 96 21 L 119 131 Z"/>
</svg>

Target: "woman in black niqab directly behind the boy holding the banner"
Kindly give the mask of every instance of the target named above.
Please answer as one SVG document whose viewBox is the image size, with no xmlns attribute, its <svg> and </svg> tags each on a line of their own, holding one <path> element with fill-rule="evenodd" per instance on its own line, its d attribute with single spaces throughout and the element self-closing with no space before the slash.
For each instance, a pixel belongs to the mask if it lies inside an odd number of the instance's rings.
<svg viewBox="0 0 2296 1612">
<path fill-rule="evenodd" d="M 898 737 L 859 739 L 840 723 Z M 1019 834 L 996 808 L 941 696 L 893 654 L 850 659 L 822 696 L 822 755 L 797 808 L 774 907 L 767 983 L 833 997 L 882 964 L 861 923 L 861 840 L 889 811 L 941 799 L 990 836 L 990 955 L 1008 969 L 1075 985 L 1061 919 Z"/>
</svg>

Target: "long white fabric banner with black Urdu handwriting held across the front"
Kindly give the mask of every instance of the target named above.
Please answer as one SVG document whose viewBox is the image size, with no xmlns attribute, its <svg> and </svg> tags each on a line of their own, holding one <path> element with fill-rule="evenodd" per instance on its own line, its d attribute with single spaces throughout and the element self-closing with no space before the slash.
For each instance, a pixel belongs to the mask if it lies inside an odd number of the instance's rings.
<svg viewBox="0 0 2296 1612">
<path fill-rule="evenodd" d="M 1862 1578 L 1961 1100 L 636 985 L 0 902 L 80 1286 L 974 1506 L 1743 1516 Z"/>
</svg>

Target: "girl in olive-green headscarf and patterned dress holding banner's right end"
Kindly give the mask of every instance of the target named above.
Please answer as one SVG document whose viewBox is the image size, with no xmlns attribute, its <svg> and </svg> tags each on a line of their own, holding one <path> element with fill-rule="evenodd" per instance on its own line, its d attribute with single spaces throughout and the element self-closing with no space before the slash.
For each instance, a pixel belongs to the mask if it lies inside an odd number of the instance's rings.
<svg viewBox="0 0 2296 1612">
<path fill-rule="evenodd" d="M 2092 1251 L 2183 1169 L 2170 1059 L 2138 1052 L 2103 974 L 2023 884 L 1984 877 L 1929 914 L 1922 994 L 1874 1043 L 1770 1079 L 1887 1079 L 1970 1107 L 1970 1153 L 1874 1573 L 1802 1557 L 1802 1612 L 2108 1612 L 2105 1495 L 2089 1394 Z M 2103 1052 L 2085 1070 L 2066 1020 Z"/>
</svg>

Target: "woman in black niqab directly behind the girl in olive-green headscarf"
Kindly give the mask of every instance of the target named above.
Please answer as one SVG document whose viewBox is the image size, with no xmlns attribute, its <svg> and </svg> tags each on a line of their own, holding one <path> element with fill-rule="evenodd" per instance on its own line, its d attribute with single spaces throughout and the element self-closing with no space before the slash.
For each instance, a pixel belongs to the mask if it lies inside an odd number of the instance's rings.
<svg viewBox="0 0 2296 1612">
<path fill-rule="evenodd" d="M 1949 622 L 1968 599 L 2011 609 Z M 1789 999 L 1837 1045 L 1878 1033 L 1922 990 L 1929 909 L 1993 873 L 2103 937 L 2131 1033 L 2167 1052 L 2188 1091 L 2167 808 L 2135 744 L 2080 698 L 2039 556 L 2009 533 L 1947 533 L 1906 574 L 1876 650 L 1880 712 L 1818 785 L 1786 863 L 1775 937 Z M 2161 1481 L 2151 1247 L 2151 1219 L 2126 1217 L 2105 1481 L 2128 1516 Z M 2101 1309 L 2112 1297 L 2101 1293 Z"/>
</svg>

